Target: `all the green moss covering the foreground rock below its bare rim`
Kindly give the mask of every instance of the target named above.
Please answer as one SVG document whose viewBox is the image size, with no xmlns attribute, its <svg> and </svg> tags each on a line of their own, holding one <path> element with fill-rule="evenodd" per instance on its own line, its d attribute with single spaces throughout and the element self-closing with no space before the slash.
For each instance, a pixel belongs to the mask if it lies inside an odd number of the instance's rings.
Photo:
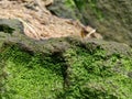
<svg viewBox="0 0 132 99">
<path fill-rule="evenodd" d="M 84 46 L 44 54 L 12 45 L 1 52 L 2 99 L 132 98 L 131 56 Z"/>
</svg>

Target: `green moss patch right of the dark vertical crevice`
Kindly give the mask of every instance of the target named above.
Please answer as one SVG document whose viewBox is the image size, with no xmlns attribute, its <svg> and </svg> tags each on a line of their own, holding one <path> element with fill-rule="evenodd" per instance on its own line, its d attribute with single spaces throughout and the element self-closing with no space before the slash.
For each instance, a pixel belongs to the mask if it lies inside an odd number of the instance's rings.
<svg viewBox="0 0 132 99">
<path fill-rule="evenodd" d="M 68 50 L 65 54 L 70 65 L 68 81 L 70 86 L 64 92 L 66 99 L 131 99 L 132 70 L 131 58 L 105 51 L 95 52 L 82 48 Z"/>
</svg>

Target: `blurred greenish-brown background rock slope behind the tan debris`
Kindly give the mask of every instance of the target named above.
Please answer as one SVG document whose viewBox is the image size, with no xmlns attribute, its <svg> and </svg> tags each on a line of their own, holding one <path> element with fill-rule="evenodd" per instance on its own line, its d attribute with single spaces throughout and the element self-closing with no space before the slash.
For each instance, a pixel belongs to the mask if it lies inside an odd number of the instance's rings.
<svg viewBox="0 0 132 99">
<path fill-rule="evenodd" d="M 55 0 L 48 9 L 96 28 L 106 40 L 132 45 L 132 0 Z"/>
</svg>

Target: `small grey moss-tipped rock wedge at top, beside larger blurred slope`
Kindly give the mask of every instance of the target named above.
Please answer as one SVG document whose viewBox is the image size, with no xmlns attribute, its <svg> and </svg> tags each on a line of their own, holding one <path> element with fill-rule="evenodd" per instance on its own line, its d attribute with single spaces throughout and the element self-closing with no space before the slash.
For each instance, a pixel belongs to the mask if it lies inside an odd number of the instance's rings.
<svg viewBox="0 0 132 99">
<path fill-rule="evenodd" d="M 55 15 L 68 19 L 81 19 L 81 13 L 76 8 L 74 0 L 54 0 L 54 3 L 47 9 Z"/>
</svg>

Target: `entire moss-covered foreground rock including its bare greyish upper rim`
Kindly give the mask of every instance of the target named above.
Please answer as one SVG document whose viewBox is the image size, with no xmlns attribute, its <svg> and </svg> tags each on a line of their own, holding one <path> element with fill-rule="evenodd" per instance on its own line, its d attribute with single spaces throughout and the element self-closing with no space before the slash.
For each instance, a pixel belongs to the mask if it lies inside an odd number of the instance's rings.
<svg viewBox="0 0 132 99">
<path fill-rule="evenodd" d="M 20 32 L 21 22 L 10 22 L 6 28 L 12 34 L 0 32 L 0 98 L 132 98 L 132 52 L 127 44 L 76 37 L 35 41 Z"/>
</svg>

